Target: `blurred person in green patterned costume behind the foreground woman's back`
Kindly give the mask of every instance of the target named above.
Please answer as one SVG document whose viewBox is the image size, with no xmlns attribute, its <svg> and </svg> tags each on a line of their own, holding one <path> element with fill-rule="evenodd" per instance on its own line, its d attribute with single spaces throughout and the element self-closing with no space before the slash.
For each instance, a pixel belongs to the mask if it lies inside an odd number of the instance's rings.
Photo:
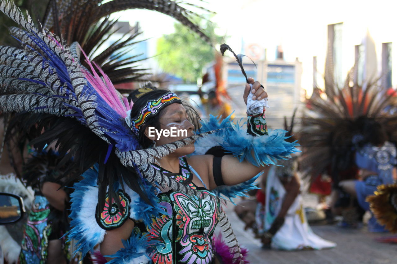
<svg viewBox="0 0 397 264">
<path fill-rule="evenodd" d="M 57 168 L 61 159 L 49 149 L 34 153 L 23 168 L 23 179 L 35 191 L 35 200 L 23 230 L 21 264 L 63 264 L 71 260 L 70 243 L 62 236 L 69 226 L 69 194 L 73 189 L 62 187 L 66 182 L 57 179 L 71 161 Z"/>
</svg>

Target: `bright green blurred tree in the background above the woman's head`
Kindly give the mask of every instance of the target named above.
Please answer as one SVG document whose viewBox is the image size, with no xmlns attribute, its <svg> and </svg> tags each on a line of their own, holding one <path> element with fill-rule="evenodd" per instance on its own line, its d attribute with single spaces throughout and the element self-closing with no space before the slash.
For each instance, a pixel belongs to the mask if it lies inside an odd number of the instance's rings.
<svg viewBox="0 0 397 264">
<path fill-rule="evenodd" d="M 223 42 L 224 37 L 214 32 L 216 24 L 204 19 L 198 22 L 214 46 Z M 202 69 L 215 59 L 215 48 L 180 23 L 174 27 L 174 33 L 158 39 L 156 59 L 164 72 L 195 83 L 202 76 Z"/>
</svg>

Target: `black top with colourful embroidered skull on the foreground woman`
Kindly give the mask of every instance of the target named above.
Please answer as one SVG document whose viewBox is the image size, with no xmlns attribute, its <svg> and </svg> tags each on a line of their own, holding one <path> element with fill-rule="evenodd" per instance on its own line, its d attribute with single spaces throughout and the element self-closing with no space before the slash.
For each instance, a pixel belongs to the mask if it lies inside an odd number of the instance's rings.
<svg viewBox="0 0 397 264">
<path fill-rule="evenodd" d="M 210 264 L 214 262 L 211 237 L 219 220 L 219 200 L 204 187 L 195 186 L 186 159 L 179 161 L 180 173 L 172 177 L 198 189 L 202 197 L 171 191 L 161 193 L 159 204 L 164 207 L 164 214 L 152 218 L 152 223 L 146 227 L 136 222 L 135 233 L 159 242 L 152 252 L 154 264 Z"/>
</svg>

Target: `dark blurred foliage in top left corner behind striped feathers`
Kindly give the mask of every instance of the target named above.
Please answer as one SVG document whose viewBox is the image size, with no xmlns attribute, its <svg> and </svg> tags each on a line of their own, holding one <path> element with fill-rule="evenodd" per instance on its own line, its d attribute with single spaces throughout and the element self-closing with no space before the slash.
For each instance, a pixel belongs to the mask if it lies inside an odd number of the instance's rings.
<svg viewBox="0 0 397 264">
<path fill-rule="evenodd" d="M 10 0 L 12 1 L 12 0 Z M 46 11 L 49 0 L 13 0 L 15 4 L 24 12 L 29 11 L 33 21 L 41 20 Z M 25 13 L 25 12 L 24 12 Z M 8 31 L 9 27 L 16 27 L 17 24 L 14 23 L 9 17 L 0 14 L 0 44 L 7 46 L 17 45 L 17 40 L 15 40 Z"/>
</svg>

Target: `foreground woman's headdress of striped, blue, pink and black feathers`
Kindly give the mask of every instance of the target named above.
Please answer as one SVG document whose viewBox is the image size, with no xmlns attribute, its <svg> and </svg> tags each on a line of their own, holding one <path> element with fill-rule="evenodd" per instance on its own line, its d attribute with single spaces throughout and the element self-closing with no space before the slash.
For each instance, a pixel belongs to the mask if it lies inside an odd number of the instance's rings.
<svg viewBox="0 0 397 264">
<path fill-rule="evenodd" d="M 2 0 L 0 9 L 21 27 L 10 29 L 21 48 L 0 47 L 0 110 L 42 114 L 36 123 L 30 122 L 30 126 L 44 128 L 32 142 L 36 147 L 42 149 L 56 140 L 60 155 L 66 160 L 73 156 L 79 172 L 99 160 L 100 207 L 107 186 L 115 181 L 127 184 L 143 199 L 143 178 L 154 186 L 195 195 L 195 190 L 164 176 L 148 163 L 211 132 L 139 150 L 137 137 L 125 122 L 131 104 L 120 97 L 110 78 L 87 58 L 80 45 L 73 42 L 68 46 L 56 34 L 38 29 L 29 14 L 25 19 L 11 1 Z M 81 64 L 81 58 L 85 58 L 87 67 Z M 114 195 L 109 188 L 110 199 Z"/>
</svg>

